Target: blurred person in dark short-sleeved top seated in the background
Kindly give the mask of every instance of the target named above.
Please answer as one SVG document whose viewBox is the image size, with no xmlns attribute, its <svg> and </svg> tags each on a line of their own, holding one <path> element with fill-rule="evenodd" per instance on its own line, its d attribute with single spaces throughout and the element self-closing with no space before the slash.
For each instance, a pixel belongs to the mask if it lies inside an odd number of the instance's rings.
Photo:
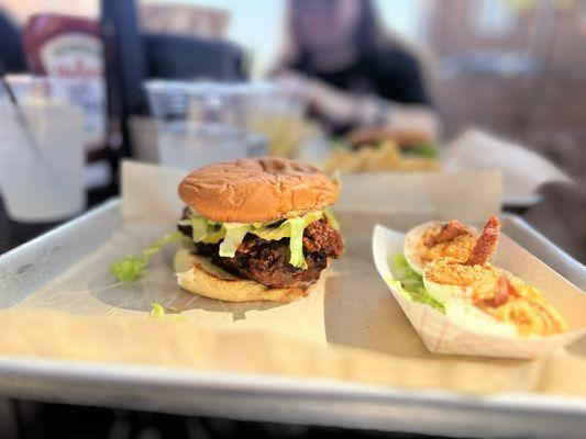
<svg viewBox="0 0 586 439">
<path fill-rule="evenodd" d="M 384 33 L 373 1 L 288 7 L 289 47 L 278 74 L 301 81 L 311 111 L 334 134 L 376 127 L 399 143 L 433 142 L 438 120 L 421 66 Z"/>
</svg>

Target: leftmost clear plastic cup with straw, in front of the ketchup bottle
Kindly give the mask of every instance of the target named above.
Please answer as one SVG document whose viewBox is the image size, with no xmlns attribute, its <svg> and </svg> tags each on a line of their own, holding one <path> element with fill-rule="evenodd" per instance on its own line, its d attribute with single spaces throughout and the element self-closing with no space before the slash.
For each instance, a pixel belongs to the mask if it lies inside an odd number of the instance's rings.
<svg viewBox="0 0 586 439">
<path fill-rule="evenodd" d="M 0 90 L 0 189 L 11 218 L 57 221 L 85 206 L 84 117 L 63 80 L 9 78 L 20 112 Z"/>
</svg>

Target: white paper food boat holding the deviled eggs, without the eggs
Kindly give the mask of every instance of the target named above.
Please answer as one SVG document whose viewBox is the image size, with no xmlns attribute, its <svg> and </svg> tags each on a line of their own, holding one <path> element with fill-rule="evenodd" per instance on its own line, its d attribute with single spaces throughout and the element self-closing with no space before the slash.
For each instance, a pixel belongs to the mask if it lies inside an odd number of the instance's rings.
<svg viewBox="0 0 586 439">
<path fill-rule="evenodd" d="M 378 273 L 433 353 L 530 359 L 565 348 L 586 335 L 586 295 L 506 236 L 500 237 L 495 264 L 537 286 L 565 317 L 570 331 L 554 336 L 508 336 L 463 326 L 446 314 L 414 302 L 392 278 L 389 257 L 402 254 L 405 235 L 377 225 L 373 256 Z"/>
</svg>

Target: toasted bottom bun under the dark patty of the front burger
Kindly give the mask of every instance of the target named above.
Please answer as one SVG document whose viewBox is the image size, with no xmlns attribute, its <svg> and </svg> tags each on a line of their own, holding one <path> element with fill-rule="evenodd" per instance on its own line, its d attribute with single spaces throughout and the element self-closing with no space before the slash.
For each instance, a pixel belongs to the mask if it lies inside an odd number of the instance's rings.
<svg viewBox="0 0 586 439">
<path fill-rule="evenodd" d="M 190 293 L 226 302 L 294 302 L 309 293 L 308 288 L 273 289 L 235 277 L 213 264 L 209 258 L 194 255 L 187 248 L 177 250 L 174 267 L 179 286 Z"/>
</svg>

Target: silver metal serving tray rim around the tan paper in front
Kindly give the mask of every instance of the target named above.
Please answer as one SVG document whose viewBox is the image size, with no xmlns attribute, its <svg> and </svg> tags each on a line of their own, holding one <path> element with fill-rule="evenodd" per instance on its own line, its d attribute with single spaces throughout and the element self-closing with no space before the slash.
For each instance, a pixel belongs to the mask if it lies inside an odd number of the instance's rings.
<svg viewBox="0 0 586 439">
<path fill-rule="evenodd" d="M 586 268 L 519 217 L 505 233 L 581 288 Z M 103 243 L 120 224 L 112 200 L 0 256 L 0 307 L 10 307 Z M 586 401 L 544 395 L 474 397 L 324 380 L 210 373 L 0 357 L 7 396 L 234 419 L 467 437 L 577 438 Z"/>
</svg>

